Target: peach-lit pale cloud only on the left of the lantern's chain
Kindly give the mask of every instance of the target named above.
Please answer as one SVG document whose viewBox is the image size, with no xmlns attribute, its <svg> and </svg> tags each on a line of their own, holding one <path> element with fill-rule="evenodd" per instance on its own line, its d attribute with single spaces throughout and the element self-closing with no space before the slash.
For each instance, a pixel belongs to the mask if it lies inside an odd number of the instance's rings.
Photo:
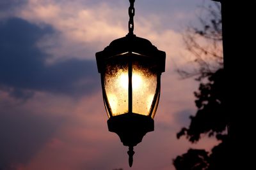
<svg viewBox="0 0 256 170">
<path fill-rule="evenodd" d="M 95 59 L 95 52 L 127 34 L 127 22 L 117 19 L 124 14 L 127 18 L 126 10 L 122 11 L 116 2 L 113 6 L 102 1 L 95 3 L 30 0 L 19 10 L 19 17 L 37 25 L 49 24 L 58 31 L 40 41 L 40 48 L 54 57 L 50 62 L 70 56 Z"/>
</svg>

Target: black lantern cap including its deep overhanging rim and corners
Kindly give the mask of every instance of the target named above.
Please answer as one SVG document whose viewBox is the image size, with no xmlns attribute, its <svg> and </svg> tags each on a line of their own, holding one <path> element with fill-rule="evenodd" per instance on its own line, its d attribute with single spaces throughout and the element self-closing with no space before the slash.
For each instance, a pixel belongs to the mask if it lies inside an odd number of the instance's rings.
<svg viewBox="0 0 256 170">
<path fill-rule="evenodd" d="M 116 57 L 124 56 L 124 54 L 129 56 L 136 55 L 137 59 L 143 59 L 145 62 L 147 62 L 148 59 L 154 61 L 158 72 L 164 72 L 166 53 L 157 50 L 156 46 L 152 45 L 152 43 L 145 38 L 137 37 L 134 34 L 127 34 L 127 36 L 123 38 L 115 39 L 109 46 L 104 48 L 103 51 L 96 53 L 99 73 L 104 70 L 109 59 L 116 59 Z"/>
</svg>

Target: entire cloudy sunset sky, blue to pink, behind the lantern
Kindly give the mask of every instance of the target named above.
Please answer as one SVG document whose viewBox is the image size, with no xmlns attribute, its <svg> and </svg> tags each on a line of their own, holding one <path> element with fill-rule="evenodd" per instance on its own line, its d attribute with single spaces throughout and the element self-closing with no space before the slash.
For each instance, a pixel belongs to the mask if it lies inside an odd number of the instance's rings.
<svg viewBox="0 0 256 170">
<path fill-rule="evenodd" d="M 137 0 L 134 34 L 166 52 L 155 131 L 134 148 L 108 132 L 95 52 L 128 32 L 128 0 L 0 0 L 1 170 L 173 170 L 191 145 L 177 139 L 196 111 L 198 82 L 182 33 L 198 24 L 203 0 Z"/>
</svg>

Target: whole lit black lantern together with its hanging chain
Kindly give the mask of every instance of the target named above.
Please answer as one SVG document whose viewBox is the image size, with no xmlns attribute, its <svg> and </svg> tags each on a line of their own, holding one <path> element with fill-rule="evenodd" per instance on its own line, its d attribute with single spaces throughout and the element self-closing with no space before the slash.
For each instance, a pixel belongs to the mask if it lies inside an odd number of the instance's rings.
<svg viewBox="0 0 256 170">
<path fill-rule="evenodd" d="M 96 59 L 109 117 L 108 129 L 118 134 L 124 146 L 129 146 L 131 167 L 133 146 L 147 132 L 154 131 L 166 54 L 133 34 L 134 0 L 129 1 L 129 33 L 97 52 Z"/>
</svg>

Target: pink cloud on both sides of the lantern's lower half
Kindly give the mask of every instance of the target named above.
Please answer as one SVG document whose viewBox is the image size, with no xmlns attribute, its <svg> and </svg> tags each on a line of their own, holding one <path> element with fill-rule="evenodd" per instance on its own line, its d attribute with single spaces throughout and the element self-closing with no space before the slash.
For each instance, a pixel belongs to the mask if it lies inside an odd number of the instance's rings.
<svg viewBox="0 0 256 170">
<path fill-rule="evenodd" d="M 164 93 L 172 87 L 166 84 L 166 80 L 163 82 Z M 172 94 L 173 90 L 170 90 L 169 94 Z M 36 99 L 38 96 L 41 96 L 39 101 Z M 127 147 L 122 146 L 116 134 L 108 132 L 108 118 L 101 92 L 79 101 L 63 99 L 61 96 L 51 98 L 51 95 L 47 94 L 38 96 L 26 105 L 27 110 L 36 110 L 38 107 L 44 107 L 45 103 L 51 103 L 45 108 L 45 111 L 49 110 L 47 117 L 65 117 L 66 121 L 56 129 L 52 138 L 38 150 L 28 164 L 18 165 L 19 169 L 128 168 Z M 132 169 L 174 169 L 172 159 L 186 152 L 191 146 L 209 149 L 216 144 L 216 141 L 211 139 L 206 139 L 198 145 L 191 145 L 184 138 L 177 140 L 175 135 L 182 125 L 175 124 L 172 112 L 182 110 L 184 103 L 168 103 L 164 101 L 167 96 L 163 94 L 162 97 L 155 118 L 155 131 L 148 133 L 142 143 L 134 148 L 136 153 Z M 182 101 L 182 96 L 177 100 Z"/>
</svg>

